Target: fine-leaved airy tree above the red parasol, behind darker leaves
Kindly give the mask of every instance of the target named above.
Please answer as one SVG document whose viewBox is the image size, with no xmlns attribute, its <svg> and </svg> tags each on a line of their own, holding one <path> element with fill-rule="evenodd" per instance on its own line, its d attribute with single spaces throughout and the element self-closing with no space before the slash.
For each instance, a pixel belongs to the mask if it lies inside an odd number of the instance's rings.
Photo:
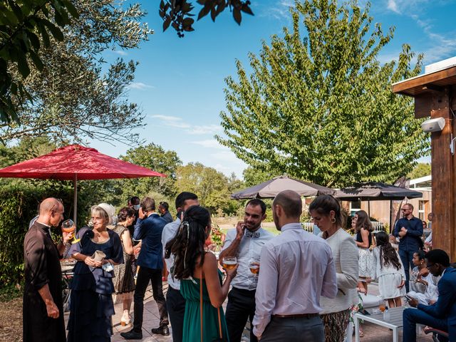
<svg viewBox="0 0 456 342">
<path fill-rule="evenodd" d="M 33 67 L 24 81 L 32 100 L 16 98 L 21 125 L 0 125 L 4 142 L 24 136 L 50 135 L 80 142 L 84 138 L 136 141 L 132 129 L 143 115 L 125 96 L 134 79 L 137 63 L 118 59 L 103 61 L 108 49 L 137 48 L 152 32 L 141 19 L 138 4 L 124 8 L 114 0 L 77 1 L 79 18 L 63 29 L 63 41 L 49 37 L 38 55 L 43 68 Z M 14 79 L 21 75 L 12 71 Z"/>
</svg>

